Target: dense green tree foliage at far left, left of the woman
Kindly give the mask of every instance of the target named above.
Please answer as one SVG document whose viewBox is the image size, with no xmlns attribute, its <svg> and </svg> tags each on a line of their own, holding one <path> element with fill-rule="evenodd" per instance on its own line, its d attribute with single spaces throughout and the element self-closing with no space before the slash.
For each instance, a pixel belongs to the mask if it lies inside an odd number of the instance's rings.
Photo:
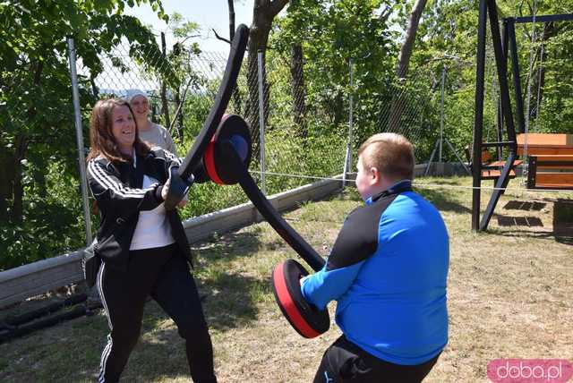
<svg viewBox="0 0 573 383">
<path fill-rule="evenodd" d="M 0 3 L 0 270 L 46 258 L 83 243 L 79 172 L 66 37 L 92 78 L 98 57 L 132 43 L 134 59 L 158 50 L 125 5 L 159 1 L 4 1 Z M 95 101 L 82 79 L 81 106 Z M 84 123 L 88 146 L 88 126 Z"/>
</svg>

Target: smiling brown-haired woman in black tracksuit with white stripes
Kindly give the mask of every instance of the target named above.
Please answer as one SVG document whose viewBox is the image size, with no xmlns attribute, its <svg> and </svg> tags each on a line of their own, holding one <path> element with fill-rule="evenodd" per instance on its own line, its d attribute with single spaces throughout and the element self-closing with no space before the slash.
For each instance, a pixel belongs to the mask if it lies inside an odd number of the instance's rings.
<svg viewBox="0 0 573 383">
<path fill-rule="evenodd" d="M 141 141 L 129 104 L 113 98 L 94 106 L 90 144 L 88 181 L 101 214 L 97 285 L 110 328 L 98 381 L 119 380 L 150 295 L 185 339 L 193 381 L 216 382 L 209 330 L 188 265 L 189 243 L 176 210 L 163 204 L 169 169 L 179 160 Z"/>
</svg>

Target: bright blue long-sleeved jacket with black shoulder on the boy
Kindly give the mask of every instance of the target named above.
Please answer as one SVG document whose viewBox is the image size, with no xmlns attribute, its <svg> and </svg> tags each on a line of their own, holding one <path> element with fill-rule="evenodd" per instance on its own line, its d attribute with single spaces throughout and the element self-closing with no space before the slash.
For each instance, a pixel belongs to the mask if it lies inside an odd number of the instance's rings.
<svg viewBox="0 0 573 383">
<path fill-rule="evenodd" d="M 440 212 L 409 181 L 347 218 L 319 272 L 302 285 L 319 309 L 338 302 L 346 338 L 381 360 L 427 362 L 448 343 L 449 237 Z"/>
</svg>

